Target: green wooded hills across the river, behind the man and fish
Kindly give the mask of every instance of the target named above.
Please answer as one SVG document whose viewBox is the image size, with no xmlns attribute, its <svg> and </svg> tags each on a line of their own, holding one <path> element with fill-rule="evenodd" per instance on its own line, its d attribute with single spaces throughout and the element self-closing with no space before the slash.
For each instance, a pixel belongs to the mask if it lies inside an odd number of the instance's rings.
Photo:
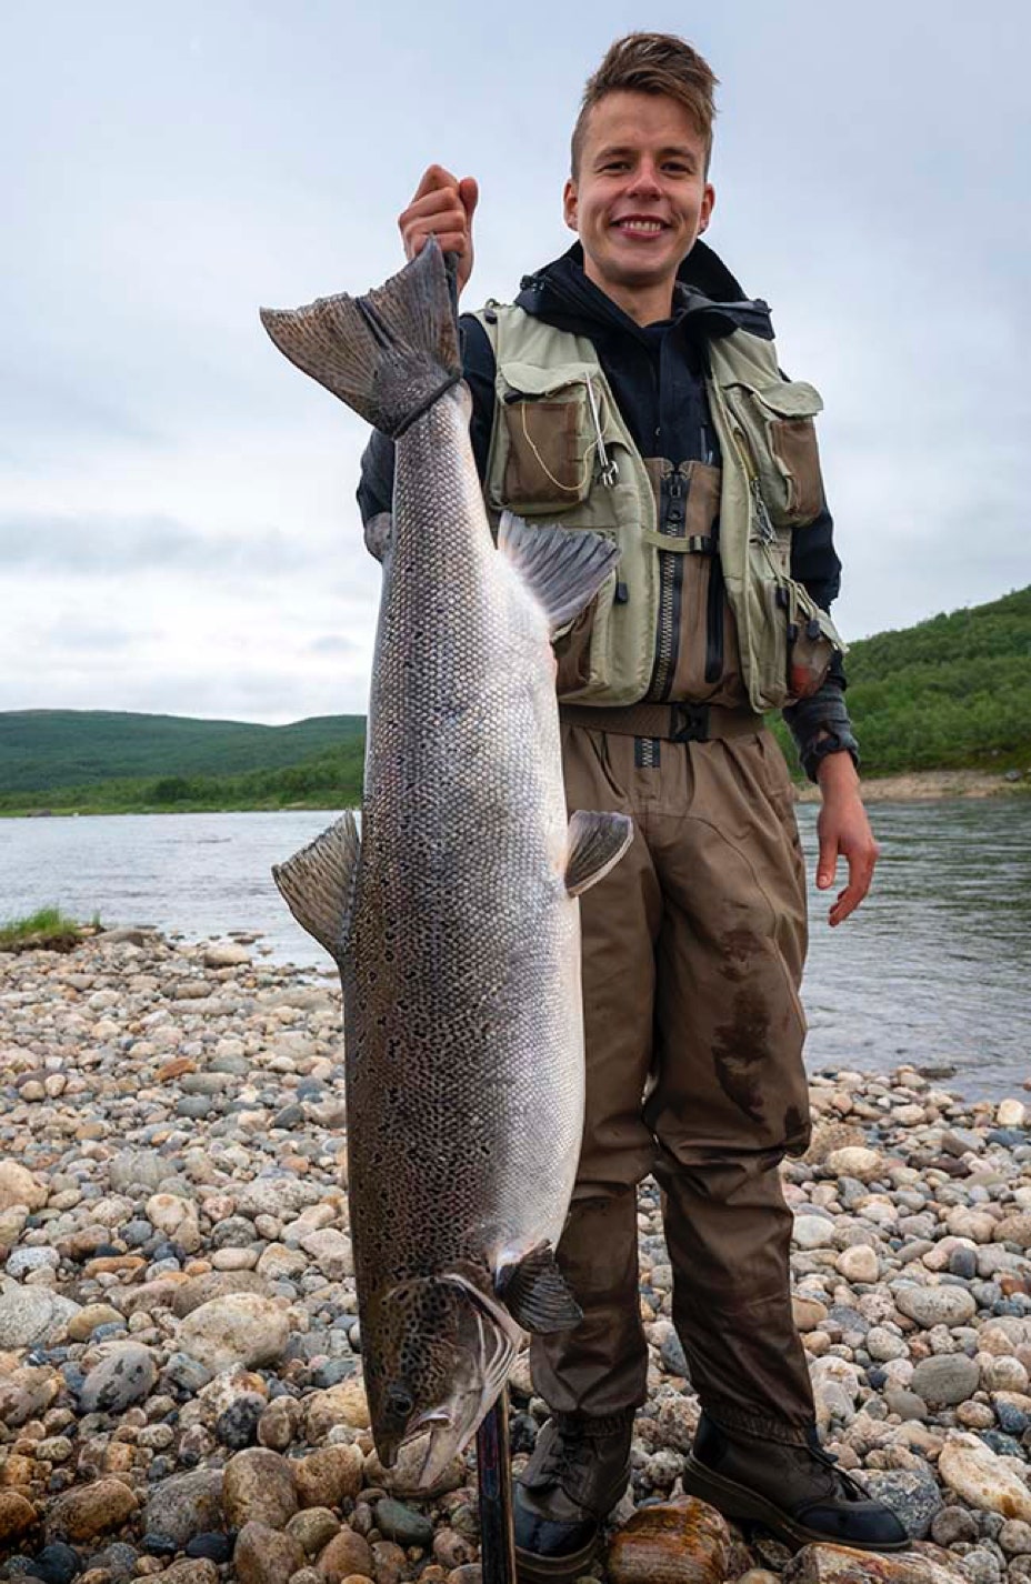
<svg viewBox="0 0 1031 1584">
<path fill-rule="evenodd" d="M 854 643 L 865 776 L 1031 770 L 1031 586 Z M 774 730 L 793 763 L 789 737 Z M 0 813 L 340 808 L 358 803 L 364 718 L 293 725 L 112 711 L 0 713 Z"/>
</svg>

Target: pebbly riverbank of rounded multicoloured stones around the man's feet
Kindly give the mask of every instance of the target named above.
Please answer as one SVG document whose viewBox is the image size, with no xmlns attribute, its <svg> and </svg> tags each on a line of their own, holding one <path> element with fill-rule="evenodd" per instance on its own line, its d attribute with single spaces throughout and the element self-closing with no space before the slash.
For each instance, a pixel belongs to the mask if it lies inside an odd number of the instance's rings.
<svg viewBox="0 0 1031 1584">
<path fill-rule="evenodd" d="M 824 1441 L 912 1549 L 792 1557 L 683 1495 L 648 1182 L 649 1400 L 584 1584 L 1031 1579 L 1031 1107 L 926 1060 L 817 1076 L 782 1167 Z M 0 1578 L 475 1584 L 472 1456 L 418 1498 L 372 1449 L 336 977 L 136 930 L 0 955 Z M 545 1415 L 523 1356 L 516 1467 Z"/>
</svg>

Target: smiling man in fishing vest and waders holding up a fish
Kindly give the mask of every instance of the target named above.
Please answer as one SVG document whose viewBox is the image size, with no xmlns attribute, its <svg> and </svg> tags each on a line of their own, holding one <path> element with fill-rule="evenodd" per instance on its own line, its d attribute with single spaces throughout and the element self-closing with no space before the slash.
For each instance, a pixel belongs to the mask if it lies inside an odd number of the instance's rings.
<svg viewBox="0 0 1031 1584">
<path fill-rule="evenodd" d="M 524 1581 L 575 1579 L 626 1489 L 646 1397 L 637 1196 L 654 1172 L 673 1319 L 702 1402 L 684 1487 L 789 1541 L 898 1549 L 898 1519 L 819 1446 L 792 1319 L 778 1166 L 809 1136 L 798 1004 L 805 871 L 786 705 L 819 781 L 817 884 L 865 897 L 877 849 L 827 610 L 839 562 L 817 393 L 782 379 L 770 314 L 698 236 L 714 76 L 683 40 L 611 46 L 573 131 L 578 244 L 513 307 L 462 317 L 472 442 L 491 512 L 618 539 L 619 573 L 556 645 L 570 808 L 632 814 L 635 841 L 581 901 L 588 1115 L 559 1262 L 584 1319 L 534 1338 L 553 1410 L 516 1487 Z M 401 215 L 472 271 L 477 185 L 431 166 Z M 363 516 L 390 508 L 374 436 Z"/>
</svg>

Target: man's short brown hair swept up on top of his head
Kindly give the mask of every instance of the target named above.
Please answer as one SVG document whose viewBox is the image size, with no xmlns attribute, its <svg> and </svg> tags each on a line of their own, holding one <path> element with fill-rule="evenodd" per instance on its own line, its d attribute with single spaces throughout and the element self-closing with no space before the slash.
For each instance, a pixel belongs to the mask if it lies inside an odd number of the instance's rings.
<svg viewBox="0 0 1031 1584">
<path fill-rule="evenodd" d="M 713 89 L 719 78 L 708 60 L 675 33 L 627 33 L 605 52 L 597 71 L 588 78 L 580 116 L 573 127 L 570 166 L 573 181 L 580 171 L 591 111 L 607 93 L 664 93 L 676 100 L 705 138 L 705 168 L 713 152 L 713 120 L 716 105 Z"/>
</svg>

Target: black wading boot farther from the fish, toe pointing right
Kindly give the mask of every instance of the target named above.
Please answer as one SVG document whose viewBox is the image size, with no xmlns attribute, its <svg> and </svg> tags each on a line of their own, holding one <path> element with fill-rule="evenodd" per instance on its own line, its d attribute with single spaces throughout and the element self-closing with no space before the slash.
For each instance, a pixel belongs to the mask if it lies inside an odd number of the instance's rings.
<svg viewBox="0 0 1031 1584">
<path fill-rule="evenodd" d="M 705 1413 L 684 1491 L 736 1522 L 757 1522 L 789 1546 L 838 1544 L 857 1551 L 906 1551 L 909 1536 L 895 1513 L 874 1502 L 825 1453 L 816 1430 L 805 1445 L 757 1437 L 732 1438 Z"/>
</svg>

